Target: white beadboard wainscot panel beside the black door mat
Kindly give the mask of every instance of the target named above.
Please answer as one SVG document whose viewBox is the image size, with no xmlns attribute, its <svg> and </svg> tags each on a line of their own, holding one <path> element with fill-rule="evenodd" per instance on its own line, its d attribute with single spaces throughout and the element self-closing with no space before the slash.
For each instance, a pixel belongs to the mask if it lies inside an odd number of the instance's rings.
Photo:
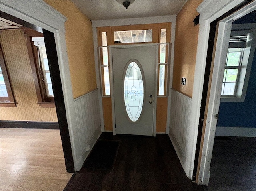
<svg viewBox="0 0 256 191">
<path fill-rule="evenodd" d="M 77 121 L 74 139 L 79 170 L 101 134 L 98 89 L 74 99 L 74 104 Z"/>
</svg>

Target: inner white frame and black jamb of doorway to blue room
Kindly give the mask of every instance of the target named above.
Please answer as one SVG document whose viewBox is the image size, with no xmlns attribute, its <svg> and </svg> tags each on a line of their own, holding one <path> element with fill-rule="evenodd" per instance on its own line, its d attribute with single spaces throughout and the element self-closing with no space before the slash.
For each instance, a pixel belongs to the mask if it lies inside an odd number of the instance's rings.
<svg viewBox="0 0 256 191">
<path fill-rule="evenodd" d="M 225 65 L 223 62 L 226 62 L 227 56 L 227 49 L 229 43 L 229 36 L 230 34 L 232 22 L 245 16 L 246 14 L 256 10 L 256 2 L 249 2 L 245 6 L 242 5 L 242 8 L 239 7 L 240 2 L 237 5 L 229 5 L 230 8 L 235 10 L 231 10 L 232 12 L 219 21 L 218 27 L 218 36 L 217 36 L 217 44 L 216 44 L 216 51 L 214 57 L 214 66 L 212 71 L 212 82 L 209 94 L 209 105 L 207 108 L 207 117 L 206 119 L 206 126 L 204 130 L 204 136 L 202 136 L 202 148 L 201 150 L 201 160 L 198 169 L 198 177 L 197 183 L 208 185 L 209 178 L 210 178 L 210 163 L 212 159 L 212 150 L 214 145 L 214 137 L 217 125 L 217 119 L 215 118 L 215 114 L 218 114 L 219 106 L 220 106 L 220 92 L 222 88 L 222 79 L 224 74 Z M 236 8 L 238 6 L 238 8 Z M 237 10 L 238 9 L 238 10 Z M 226 12 L 228 13 L 228 11 Z M 224 14 L 226 14 L 224 12 Z M 224 15 L 223 14 L 223 15 Z M 217 18 L 216 18 L 217 19 Z M 210 24 L 211 22 L 208 22 Z"/>
</svg>

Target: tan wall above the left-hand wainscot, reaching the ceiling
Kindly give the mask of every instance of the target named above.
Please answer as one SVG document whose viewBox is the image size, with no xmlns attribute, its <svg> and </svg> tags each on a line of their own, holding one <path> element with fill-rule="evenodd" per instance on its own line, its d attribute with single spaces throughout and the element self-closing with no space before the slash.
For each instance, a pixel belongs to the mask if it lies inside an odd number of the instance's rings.
<svg viewBox="0 0 256 191">
<path fill-rule="evenodd" d="M 69 0 L 45 2 L 68 19 L 65 22 L 65 37 L 73 98 L 77 98 L 97 88 L 92 24 Z"/>
</svg>

